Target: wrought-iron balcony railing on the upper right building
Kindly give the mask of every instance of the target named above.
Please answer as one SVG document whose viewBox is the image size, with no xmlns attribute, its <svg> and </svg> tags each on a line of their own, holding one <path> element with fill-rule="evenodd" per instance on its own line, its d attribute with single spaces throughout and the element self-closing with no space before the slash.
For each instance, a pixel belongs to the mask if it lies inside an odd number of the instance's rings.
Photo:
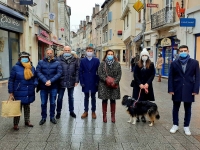
<svg viewBox="0 0 200 150">
<path fill-rule="evenodd" d="M 165 7 L 151 15 L 151 29 L 170 25 L 175 22 L 175 7 Z"/>
</svg>

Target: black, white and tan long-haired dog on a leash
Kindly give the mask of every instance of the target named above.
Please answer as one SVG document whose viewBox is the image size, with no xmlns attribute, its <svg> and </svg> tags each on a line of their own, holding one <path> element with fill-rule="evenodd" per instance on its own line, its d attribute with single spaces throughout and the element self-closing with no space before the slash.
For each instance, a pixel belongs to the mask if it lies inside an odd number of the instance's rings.
<svg viewBox="0 0 200 150">
<path fill-rule="evenodd" d="M 154 121 L 160 118 L 157 105 L 150 101 L 136 101 L 134 98 L 124 95 L 122 105 L 127 107 L 127 112 L 130 114 L 129 123 L 136 124 L 136 117 L 148 116 L 149 126 L 153 126 Z"/>
</svg>

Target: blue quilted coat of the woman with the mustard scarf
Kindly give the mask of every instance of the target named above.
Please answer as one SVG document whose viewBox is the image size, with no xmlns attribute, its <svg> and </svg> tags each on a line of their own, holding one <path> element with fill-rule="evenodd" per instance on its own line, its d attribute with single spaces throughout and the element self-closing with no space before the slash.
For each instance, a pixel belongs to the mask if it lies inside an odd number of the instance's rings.
<svg viewBox="0 0 200 150">
<path fill-rule="evenodd" d="M 32 73 L 35 74 L 35 68 L 32 67 Z M 24 66 L 17 62 L 13 66 L 8 81 L 8 92 L 13 93 L 16 100 L 21 100 L 22 104 L 30 104 L 35 101 L 35 86 L 37 78 L 32 77 L 29 80 L 24 78 Z"/>
</svg>

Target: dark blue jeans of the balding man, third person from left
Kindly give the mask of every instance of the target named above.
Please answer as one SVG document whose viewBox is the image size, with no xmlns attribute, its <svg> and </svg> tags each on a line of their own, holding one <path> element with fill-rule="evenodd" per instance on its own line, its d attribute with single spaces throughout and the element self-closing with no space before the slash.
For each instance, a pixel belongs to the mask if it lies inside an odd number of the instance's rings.
<svg viewBox="0 0 200 150">
<path fill-rule="evenodd" d="M 69 102 L 69 111 L 74 111 L 74 87 L 67 88 L 68 90 L 68 102 Z M 62 110 L 62 103 L 63 103 L 63 96 L 65 93 L 65 88 L 58 89 L 58 98 L 57 98 L 57 113 L 61 113 Z"/>
</svg>

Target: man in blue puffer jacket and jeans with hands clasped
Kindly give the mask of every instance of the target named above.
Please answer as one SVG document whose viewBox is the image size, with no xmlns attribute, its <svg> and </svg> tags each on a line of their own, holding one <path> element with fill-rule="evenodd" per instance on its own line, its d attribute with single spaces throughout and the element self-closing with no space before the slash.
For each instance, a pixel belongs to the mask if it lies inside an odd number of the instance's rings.
<svg viewBox="0 0 200 150">
<path fill-rule="evenodd" d="M 46 49 L 46 58 L 40 60 L 36 67 L 37 77 L 39 78 L 40 98 L 41 98 L 41 115 L 40 125 L 46 122 L 47 117 L 47 102 L 50 95 L 50 121 L 56 124 L 55 101 L 58 89 L 58 79 L 62 75 L 62 66 L 54 58 L 54 51 L 51 48 Z"/>
</svg>

